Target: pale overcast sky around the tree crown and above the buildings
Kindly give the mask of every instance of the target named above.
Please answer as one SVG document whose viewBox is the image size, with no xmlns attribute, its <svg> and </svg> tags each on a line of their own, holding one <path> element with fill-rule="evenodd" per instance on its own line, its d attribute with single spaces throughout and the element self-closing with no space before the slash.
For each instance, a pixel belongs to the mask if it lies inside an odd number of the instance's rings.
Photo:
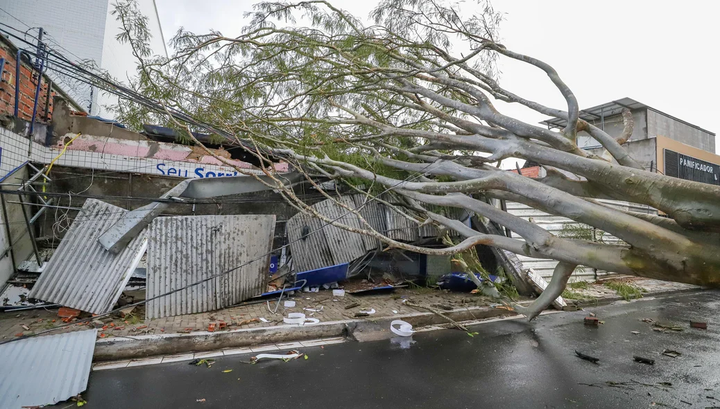
<svg viewBox="0 0 720 409">
<path fill-rule="evenodd" d="M 377 4 L 330 1 L 358 17 L 366 17 Z M 243 12 L 256 2 L 156 0 L 166 40 L 179 27 L 237 35 Z M 554 66 L 580 108 L 628 96 L 711 132 L 720 130 L 714 122 L 720 114 L 720 2 L 495 0 L 493 5 L 505 13 L 503 44 Z M 500 84 L 506 89 L 565 107 L 541 71 L 507 59 L 500 69 Z M 500 109 L 529 122 L 545 119 L 522 107 Z"/>
</svg>

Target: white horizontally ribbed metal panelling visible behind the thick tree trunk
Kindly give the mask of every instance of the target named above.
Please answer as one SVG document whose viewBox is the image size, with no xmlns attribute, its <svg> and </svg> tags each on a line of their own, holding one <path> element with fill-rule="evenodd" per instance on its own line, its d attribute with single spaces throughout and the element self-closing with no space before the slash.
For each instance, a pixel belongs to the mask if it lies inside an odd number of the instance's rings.
<svg viewBox="0 0 720 409">
<path fill-rule="evenodd" d="M 652 209 L 652 207 L 648 207 L 646 205 L 637 205 L 634 203 L 623 202 L 619 200 L 600 200 L 600 202 L 603 202 L 604 204 L 610 205 L 612 207 L 617 207 L 618 209 L 622 210 L 630 210 L 631 212 L 643 212 L 651 215 L 657 215 L 657 210 L 654 210 Z M 546 212 L 541 212 L 540 210 L 523 205 L 521 203 L 507 202 L 507 206 L 508 212 L 510 212 L 510 214 L 522 217 L 525 220 L 528 220 L 530 217 L 532 217 L 534 223 L 539 225 L 541 228 L 548 230 L 554 235 L 559 235 L 560 231 L 563 229 L 566 223 L 579 224 L 573 220 L 568 219 L 567 217 L 549 215 Z M 523 240 L 523 238 L 515 232 L 513 232 L 513 238 Z M 603 235 L 603 242 L 619 243 L 620 239 L 606 233 L 605 235 Z M 523 256 L 521 254 L 518 254 L 518 259 L 520 259 L 520 261 L 523 263 L 523 268 L 534 269 L 547 280 L 552 277 L 552 271 L 555 269 L 555 266 L 557 266 L 557 261 L 552 259 L 534 259 L 531 257 Z M 597 274 L 598 276 L 603 276 L 610 273 L 604 270 L 598 270 L 596 272 L 591 267 L 580 266 L 578 267 L 578 269 L 575 270 L 575 273 L 572 274 L 572 277 L 570 277 L 570 281 L 592 280 L 595 277 L 595 274 Z"/>
</svg>

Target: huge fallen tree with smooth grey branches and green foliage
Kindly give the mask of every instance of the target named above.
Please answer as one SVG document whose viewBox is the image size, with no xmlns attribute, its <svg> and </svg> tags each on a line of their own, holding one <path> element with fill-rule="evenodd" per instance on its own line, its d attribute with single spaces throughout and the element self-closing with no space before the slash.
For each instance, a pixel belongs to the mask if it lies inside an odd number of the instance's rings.
<svg viewBox="0 0 720 409">
<path fill-rule="evenodd" d="M 639 166 L 624 148 L 634 126 L 629 111 L 618 137 L 580 119 L 575 95 L 552 66 L 495 40 L 500 15 L 489 4 L 464 17 L 468 14 L 457 6 L 435 0 L 384 0 L 372 13 L 374 25 L 365 25 L 326 1 L 261 3 L 237 37 L 181 30 L 172 40 L 171 58 L 150 58 L 145 20 L 132 2 L 120 4 L 116 13 L 125 27 L 121 40 L 130 42 L 140 61 L 135 89 L 158 99 L 165 107 L 161 114 L 183 112 L 212 124 L 204 129 L 223 138 L 250 141 L 255 148 L 249 151 L 262 163 L 282 157 L 368 197 L 400 194 L 405 202 L 394 206 L 398 212 L 418 224 L 454 229 L 466 240 L 442 249 L 401 243 L 369 224 L 357 228 L 330 220 L 277 184 L 303 212 L 421 253 L 484 244 L 559 261 L 544 294 L 530 307 L 518 307 L 530 319 L 560 295 L 578 265 L 720 284 L 720 187 Z M 546 107 L 503 88 L 495 71 L 498 58 L 544 71 L 565 106 Z M 562 118 L 567 125 L 548 130 L 523 122 L 496 109 L 497 101 Z M 137 102 L 118 108 L 120 119 L 130 124 L 158 120 L 157 112 Z M 167 120 L 191 139 L 189 131 L 203 129 L 176 118 Z M 581 131 L 613 160 L 579 148 Z M 547 176 L 530 179 L 504 171 L 500 162 L 506 158 L 539 163 Z M 265 171 L 272 175 L 270 167 Z M 648 205 L 668 217 L 624 212 L 595 200 L 607 198 Z M 558 237 L 489 199 L 570 218 L 621 244 Z M 524 240 L 482 234 L 434 212 L 437 207 L 461 207 Z"/>
</svg>

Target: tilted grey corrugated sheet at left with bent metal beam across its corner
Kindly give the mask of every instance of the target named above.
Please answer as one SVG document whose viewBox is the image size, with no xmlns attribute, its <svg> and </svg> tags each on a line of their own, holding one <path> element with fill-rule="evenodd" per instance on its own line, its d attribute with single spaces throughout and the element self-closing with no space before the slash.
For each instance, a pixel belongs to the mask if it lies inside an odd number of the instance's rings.
<svg viewBox="0 0 720 409">
<path fill-rule="evenodd" d="M 147 230 L 117 254 L 99 243 L 100 235 L 126 212 L 122 207 L 87 199 L 30 297 L 95 314 L 112 310 L 148 246 Z"/>
</svg>

